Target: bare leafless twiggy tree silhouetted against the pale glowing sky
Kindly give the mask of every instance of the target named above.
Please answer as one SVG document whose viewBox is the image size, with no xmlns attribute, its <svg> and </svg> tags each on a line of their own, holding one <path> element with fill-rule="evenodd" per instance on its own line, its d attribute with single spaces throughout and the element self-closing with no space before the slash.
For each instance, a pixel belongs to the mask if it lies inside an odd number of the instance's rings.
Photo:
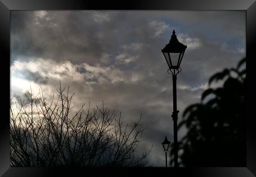
<svg viewBox="0 0 256 177">
<path fill-rule="evenodd" d="M 134 153 L 145 128 L 134 122 L 123 126 L 121 112 L 115 117 L 104 107 L 72 114 L 73 95 L 59 84 L 58 100 L 46 101 L 42 89 L 26 94 L 30 104 L 10 105 L 10 166 L 110 166 L 143 167 L 148 153 Z M 151 147 L 152 148 L 152 147 Z"/>
</svg>

